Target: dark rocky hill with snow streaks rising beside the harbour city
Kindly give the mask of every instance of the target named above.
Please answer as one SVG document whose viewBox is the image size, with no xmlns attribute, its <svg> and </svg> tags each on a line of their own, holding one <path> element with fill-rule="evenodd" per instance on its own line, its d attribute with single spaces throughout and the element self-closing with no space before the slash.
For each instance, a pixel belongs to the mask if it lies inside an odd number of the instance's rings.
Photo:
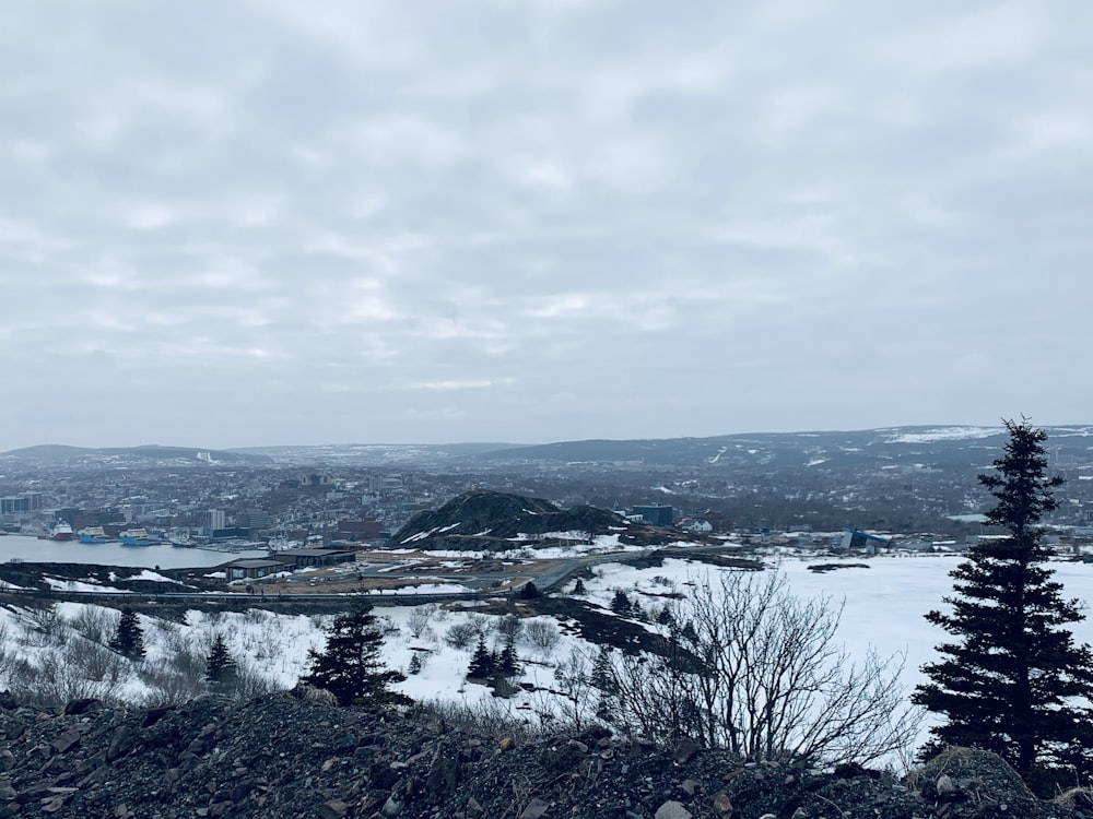
<svg viewBox="0 0 1093 819">
<path fill-rule="evenodd" d="M 633 523 L 595 507 L 559 509 L 549 500 L 473 489 L 439 509 L 419 512 L 390 539 L 390 545 L 423 549 L 510 549 L 519 545 L 553 546 L 560 533 L 593 538 L 618 535 L 622 544 L 662 545 L 680 534 Z M 514 543 L 518 541 L 518 543 Z"/>
</svg>

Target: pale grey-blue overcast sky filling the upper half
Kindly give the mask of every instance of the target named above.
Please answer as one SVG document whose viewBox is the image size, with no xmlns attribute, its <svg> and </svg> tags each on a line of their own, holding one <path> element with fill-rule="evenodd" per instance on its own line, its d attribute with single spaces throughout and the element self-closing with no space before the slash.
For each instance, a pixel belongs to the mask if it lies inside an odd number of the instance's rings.
<svg viewBox="0 0 1093 819">
<path fill-rule="evenodd" d="M 0 450 L 1093 422 L 1089 0 L 0 5 Z"/>
</svg>

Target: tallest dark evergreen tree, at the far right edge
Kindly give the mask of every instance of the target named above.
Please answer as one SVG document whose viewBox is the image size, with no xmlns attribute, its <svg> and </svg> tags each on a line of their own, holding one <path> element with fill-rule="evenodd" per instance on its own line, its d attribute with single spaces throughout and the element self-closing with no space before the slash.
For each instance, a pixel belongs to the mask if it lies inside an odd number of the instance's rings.
<svg viewBox="0 0 1093 819">
<path fill-rule="evenodd" d="M 1093 698 L 1093 653 L 1076 645 L 1065 624 L 1083 619 L 1079 602 L 1063 600 L 1062 584 L 1045 568 L 1042 517 L 1058 506 L 1048 477 L 1046 432 L 1026 419 L 1006 422 L 1010 434 L 997 472 L 979 483 L 997 503 L 989 523 L 1004 539 L 982 539 L 951 577 L 951 614 L 926 619 L 955 640 L 938 648 L 942 658 L 922 672 L 912 700 L 948 722 L 931 728 L 931 747 L 972 745 L 992 750 L 1023 775 L 1034 767 L 1073 762 L 1088 744 Z"/>
</svg>

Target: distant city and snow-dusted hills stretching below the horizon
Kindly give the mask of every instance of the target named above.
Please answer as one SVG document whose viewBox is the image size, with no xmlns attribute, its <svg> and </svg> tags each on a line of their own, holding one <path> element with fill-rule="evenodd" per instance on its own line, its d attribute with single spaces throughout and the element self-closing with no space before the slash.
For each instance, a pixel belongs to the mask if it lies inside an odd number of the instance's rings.
<svg viewBox="0 0 1093 819">
<path fill-rule="evenodd" d="M 1047 431 L 1050 467 L 1067 482 L 1053 537 L 1085 544 L 1093 427 Z M 534 447 L 43 446 L 0 453 L 0 531 L 352 550 L 381 546 L 416 512 L 481 488 L 640 515 L 681 535 L 828 548 L 850 532 L 959 547 L 985 532 L 976 475 L 1004 439 L 997 427 L 900 427 Z"/>
</svg>

